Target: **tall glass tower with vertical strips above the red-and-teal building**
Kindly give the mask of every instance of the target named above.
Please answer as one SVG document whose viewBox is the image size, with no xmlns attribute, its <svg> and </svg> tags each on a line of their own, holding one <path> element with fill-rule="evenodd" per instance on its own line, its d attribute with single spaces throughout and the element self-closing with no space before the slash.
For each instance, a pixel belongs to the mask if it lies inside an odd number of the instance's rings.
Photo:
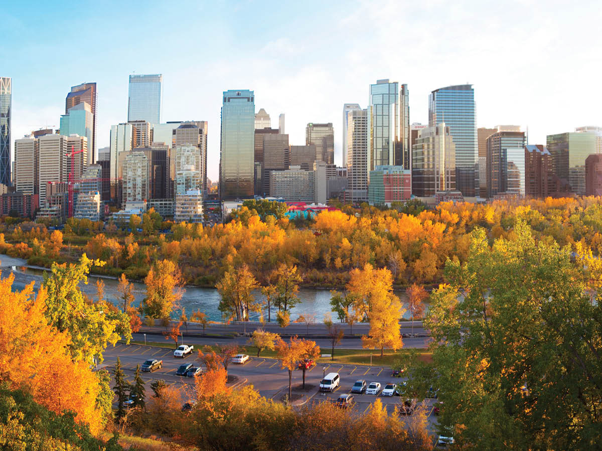
<svg viewBox="0 0 602 451">
<path fill-rule="evenodd" d="M 370 85 L 368 96 L 368 168 L 395 164 L 399 141 L 399 83 L 389 79 Z"/>
</svg>

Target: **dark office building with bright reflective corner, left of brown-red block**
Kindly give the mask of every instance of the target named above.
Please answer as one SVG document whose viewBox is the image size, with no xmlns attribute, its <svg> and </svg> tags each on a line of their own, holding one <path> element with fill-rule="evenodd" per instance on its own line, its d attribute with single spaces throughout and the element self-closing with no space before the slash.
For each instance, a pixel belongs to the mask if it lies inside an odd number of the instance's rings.
<svg viewBox="0 0 602 451">
<path fill-rule="evenodd" d="M 513 192 L 524 196 L 524 149 L 527 138 L 524 132 L 506 131 L 520 127 L 498 126 L 486 138 L 487 147 L 487 197 Z"/>
</svg>

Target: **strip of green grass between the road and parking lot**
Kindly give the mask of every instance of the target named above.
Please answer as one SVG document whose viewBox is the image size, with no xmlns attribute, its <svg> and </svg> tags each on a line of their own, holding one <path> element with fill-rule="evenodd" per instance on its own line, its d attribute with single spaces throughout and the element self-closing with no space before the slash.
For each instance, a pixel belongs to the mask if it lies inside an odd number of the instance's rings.
<svg viewBox="0 0 602 451">
<path fill-rule="evenodd" d="M 144 345 L 144 342 L 137 342 L 132 340 L 130 342 L 132 345 Z M 161 348 L 167 349 L 175 349 L 173 342 L 168 342 L 167 340 L 164 342 L 146 342 L 149 346 L 160 346 Z M 212 349 L 216 349 L 216 346 L 211 346 Z M 198 349 L 196 347 L 196 349 Z M 257 349 L 255 346 L 241 346 L 244 354 L 249 354 L 251 357 L 256 357 Z M 331 350 L 323 348 L 323 354 L 330 354 Z M 370 349 L 338 349 L 335 348 L 335 357 L 334 360 L 331 360 L 330 357 L 321 357 L 318 360 L 319 364 L 332 364 L 332 363 L 340 363 L 340 364 L 363 364 L 370 365 L 370 352 L 372 352 L 372 365 L 373 366 L 391 366 L 394 361 L 396 361 L 397 357 L 400 355 L 409 352 L 409 349 L 400 349 L 400 351 L 393 352 L 387 351 L 385 349 L 385 355 L 380 357 L 380 351 L 370 351 Z M 419 351 L 420 352 L 420 360 L 423 361 L 432 361 L 432 353 L 428 351 Z M 275 351 L 264 351 L 260 354 L 260 357 L 268 357 L 268 358 L 276 358 Z"/>
</svg>

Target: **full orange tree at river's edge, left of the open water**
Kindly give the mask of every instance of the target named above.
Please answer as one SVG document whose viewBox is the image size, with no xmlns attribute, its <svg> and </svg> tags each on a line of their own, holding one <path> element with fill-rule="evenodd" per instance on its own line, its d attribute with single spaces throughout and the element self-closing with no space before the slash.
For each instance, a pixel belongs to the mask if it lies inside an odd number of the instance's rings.
<svg viewBox="0 0 602 451">
<path fill-rule="evenodd" d="M 182 298 L 182 274 L 171 260 L 158 260 L 144 279 L 146 297 L 141 310 L 149 318 L 169 318 Z"/>
</svg>

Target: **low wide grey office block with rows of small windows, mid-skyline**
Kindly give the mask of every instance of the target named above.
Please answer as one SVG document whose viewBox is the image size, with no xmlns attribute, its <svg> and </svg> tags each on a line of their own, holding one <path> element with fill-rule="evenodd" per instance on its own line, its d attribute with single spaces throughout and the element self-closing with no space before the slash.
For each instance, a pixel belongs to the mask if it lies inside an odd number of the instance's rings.
<svg viewBox="0 0 602 451">
<path fill-rule="evenodd" d="M 284 171 L 270 173 L 270 196 L 282 197 L 291 202 L 314 202 L 314 171 L 291 166 Z"/>
</svg>

